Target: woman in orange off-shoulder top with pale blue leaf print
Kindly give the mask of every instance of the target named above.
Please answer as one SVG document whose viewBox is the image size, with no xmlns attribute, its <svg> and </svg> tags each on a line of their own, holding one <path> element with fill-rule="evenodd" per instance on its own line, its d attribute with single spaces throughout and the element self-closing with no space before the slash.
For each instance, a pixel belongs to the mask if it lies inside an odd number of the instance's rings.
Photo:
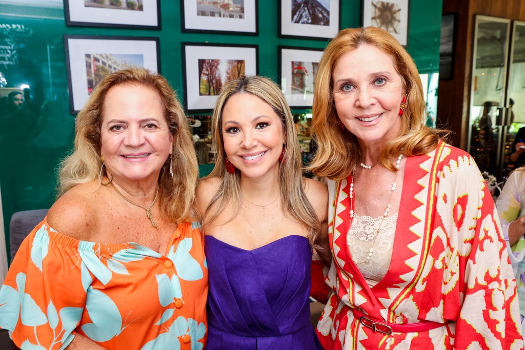
<svg viewBox="0 0 525 350">
<path fill-rule="evenodd" d="M 169 83 L 138 68 L 104 78 L 78 114 L 61 196 L 0 290 L 0 327 L 22 348 L 202 349 L 197 174 Z"/>
</svg>

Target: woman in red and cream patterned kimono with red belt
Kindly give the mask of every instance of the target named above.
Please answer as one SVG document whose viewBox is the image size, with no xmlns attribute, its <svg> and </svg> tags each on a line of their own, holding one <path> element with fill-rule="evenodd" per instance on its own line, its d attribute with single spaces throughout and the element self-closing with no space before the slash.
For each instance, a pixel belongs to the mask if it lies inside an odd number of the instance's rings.
<svg viewBox="0 0 525 350">
<path fill-rule="evenodd" d="M 516 281 L 472 157 L 425 126 L 412 58 L 386 31 L 344 29 L 313 103 L 329 181 L 327 349 L 520 349 Z"/>
</svg>

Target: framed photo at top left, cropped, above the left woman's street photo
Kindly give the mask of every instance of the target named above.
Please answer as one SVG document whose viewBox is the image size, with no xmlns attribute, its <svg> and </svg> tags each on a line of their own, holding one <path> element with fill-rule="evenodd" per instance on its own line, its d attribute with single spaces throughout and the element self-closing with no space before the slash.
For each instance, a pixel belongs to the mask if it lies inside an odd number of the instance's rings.
<svg viewBox="0 0 525 350">
<path fill-rule="evenodd" d="M 161 29 L 160 0 L 64 0 L 66 25 Z"/>
</svg>

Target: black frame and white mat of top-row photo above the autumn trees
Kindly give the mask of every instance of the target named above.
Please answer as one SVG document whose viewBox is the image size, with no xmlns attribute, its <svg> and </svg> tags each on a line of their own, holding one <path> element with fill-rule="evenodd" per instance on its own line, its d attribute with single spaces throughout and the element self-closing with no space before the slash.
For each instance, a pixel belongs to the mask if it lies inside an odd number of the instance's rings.
<svg viewBox="0 0 525 350">
<path fill-rule="evenodd" d="M 227 16 L 234 16 L 230 18 L 223 16 L 222 9 L 213 5 L 197 4 L 196 0 L 180 0 L 180 2 L 183 33 L 259 35 L 258 0 L 244 0 L 243 18 L 235 18 L 239 16 L 239 12 L 235 9 L 227 14 Z M 206 6 L 206 13 L 214 13 L 218 16 L 199 15 L 198 6 Z"/>
</svg>

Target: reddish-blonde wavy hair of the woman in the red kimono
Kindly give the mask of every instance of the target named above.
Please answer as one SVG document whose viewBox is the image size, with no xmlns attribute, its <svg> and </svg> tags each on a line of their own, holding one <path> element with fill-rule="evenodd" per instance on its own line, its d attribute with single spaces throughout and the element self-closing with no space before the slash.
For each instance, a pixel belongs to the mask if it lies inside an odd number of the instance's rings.
<svg viewBox="0 0 525 350">
<path fill-rule="evenodd" d="M 343 29 L 324 49 L 314 84 L 312 129 L 317 135 L 318 149 L 308 170 L 318 176 L 342 179 L 362 161 L 357 138 L 338 126 L 340 120 L 333 100 L 332 73 L 343 54 L 365 44 L 392 57 L 407 93 L 407 108 L 400 117 L 400 131 L 383 148 L 381 163 L 394 171 L 393 160 L 401 152 L 406 156 L 425 154 L 434 150 L 439 140 L 449 134 L 425 125 L 427 113 L 421 78 L 412 57 L 390 33 L 376 27 Z M 401 151 L 403 147 L 404 151 Z"/>
</svg>

